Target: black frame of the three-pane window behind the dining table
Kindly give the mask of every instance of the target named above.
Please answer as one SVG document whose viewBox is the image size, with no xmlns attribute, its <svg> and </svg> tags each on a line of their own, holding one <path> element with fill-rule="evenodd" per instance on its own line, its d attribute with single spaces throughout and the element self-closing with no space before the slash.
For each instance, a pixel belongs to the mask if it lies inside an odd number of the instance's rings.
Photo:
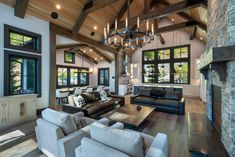
<svg viewBox="0 0 235 157">
<path fill-rule="evenodd" d="M 58 84 L 58 68 L 66 68 L 67 69 L 67 85 L 59 85 Z M 71 85 L 70 83 L 70 69 L 77 69 L 78 70 L 78 75 L 77 75 L 77 79 L 78 79 L 78 84 L 77 85 Z M 90 74 L 87 73 L 87 78 L 86 78 L 86 84 L 81 84 L 80 83 L 80 73 L 83 73 L 81 72 L 82 70 L 85 70 L 85 71 L 89 71 L 89 68 L 86 68 L 86 67 L 77 67 L 77 66 L 67 66 L 67 65 L 56 65 L 56 88 L 57 89 L 60 89 L 60 88 L 70 88 L 70 87 L 84 87 L 84 86 L 89 86 L 89 78 L 90 78 Z"/>
</svg>

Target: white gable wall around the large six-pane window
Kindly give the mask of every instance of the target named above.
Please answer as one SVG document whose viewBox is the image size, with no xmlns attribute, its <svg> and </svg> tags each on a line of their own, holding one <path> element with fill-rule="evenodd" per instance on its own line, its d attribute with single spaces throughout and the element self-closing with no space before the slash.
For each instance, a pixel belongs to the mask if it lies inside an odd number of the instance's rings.
<svg viewBox="0 0 235 157">
<path fill-rule="evenodd" d="M 170 25 L 170 23 L 167 20 L 162 20 L 160 23 L 160 27 Z M 181 37 L 180 37 L 181 34 Z M 174 40 L 173 40 L 173 32 L 167 32 L 167 33 L 162 33 L 161 34 L 163 38 L 166 41 L 165 45 L 162 45 L 158 39 L 155 38 L 155 40 L 151 44 L 146 44 L 143 46 L 143 48 L 139 48 L 136 50 L 136 52 L 132 56 L 132 63 L 138 63 L 139 66 L 139 78 L 134 80 L 134 84 L 141 84 L 142 83 L 142 75 L 141 75 L 141 65 L 142 65 L 142 51 L 148 50 L 148 49 L 157 49 L 157 48 L 163 48 L 163 47 L 172 47 L 172 46 L 177 46 L 177 45 L 186 45 L 190 44 L 191 48 L 191 72 L 190 72 L 190 78 L 191 78 L 191 84 L 190 85 L 183 85 L 185 87 L 184 93 L 185 95 L 188 94 L 189 96 L 191 95 L 196 95 L 196 97 L 200 96 L 200 79 L 195 76 L 195 70 L 198 70 L 197 67 L 195 66 L 196 59 L 200 58 L 201 53 L 205 51 L 205 44 L 202 43 L 201 41 L 194 39 L 194 40 L 189 40 L 190 34 L 188 34 L 185 31 L 175 31 L 174 32 Z M 181 38 L 181 42 L 180 42 Z"/>
</svg>

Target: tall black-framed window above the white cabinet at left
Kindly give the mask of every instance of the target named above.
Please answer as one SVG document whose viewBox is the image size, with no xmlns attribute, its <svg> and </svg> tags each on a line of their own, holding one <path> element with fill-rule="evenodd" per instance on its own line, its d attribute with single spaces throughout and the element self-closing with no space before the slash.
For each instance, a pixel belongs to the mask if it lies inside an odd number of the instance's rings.
<svg viewBox="0 0 235 157">
<path fill-rule="evenodd" d="M 41 92 L 41 57 L 19 52 L 4 52 L 4 95 Z"/>
</svg>

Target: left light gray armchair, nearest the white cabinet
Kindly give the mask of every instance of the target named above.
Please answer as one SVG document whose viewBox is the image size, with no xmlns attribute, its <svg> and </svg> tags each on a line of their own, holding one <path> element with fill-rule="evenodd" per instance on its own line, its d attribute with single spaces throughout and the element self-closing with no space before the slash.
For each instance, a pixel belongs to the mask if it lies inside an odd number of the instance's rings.
<svg viewBox="0 0 235 157">
<path fill-rule="evenodd" d="M 84 127 L 78 128 L 74 117 L 80 117 Z M 38 148 L 48 157 L 75 157 L 75 149 L 80 146 L 83 137 L 90 137 L 90 124 L 96 120 L 83 117 L 83 113 L 70 115 L 46 109 L 35 127 Z M 106 118 L 98 120 L 108 125 Z"/>
</svg>

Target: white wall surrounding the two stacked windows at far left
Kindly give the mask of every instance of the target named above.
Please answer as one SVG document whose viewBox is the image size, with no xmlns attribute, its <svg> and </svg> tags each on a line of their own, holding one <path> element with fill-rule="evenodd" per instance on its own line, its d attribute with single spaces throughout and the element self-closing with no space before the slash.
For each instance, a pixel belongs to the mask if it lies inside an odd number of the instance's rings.
<svg viewBox="0 0 235 157">
<path fill-rule="evenodd" d="M 0 96 L 3 96 L 4 93 L 4 24 L 42 35 L 42 97 L 37 99 L 37 108 L 48 107 L 49 23 L 29 15 L 26 15 L 24 19 L 15 17 L 13 8 L 0 3 Z"/>
</svg>

